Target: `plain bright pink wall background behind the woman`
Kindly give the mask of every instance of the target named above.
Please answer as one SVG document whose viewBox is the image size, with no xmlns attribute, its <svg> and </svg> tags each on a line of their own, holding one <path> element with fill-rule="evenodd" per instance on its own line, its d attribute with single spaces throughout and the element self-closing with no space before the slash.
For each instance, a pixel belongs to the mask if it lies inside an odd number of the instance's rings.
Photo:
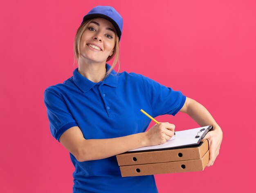
<svg viewBox="0 0 256 193">
<path fill-rule="evenodd" d="M 1 1 L 0 192 L 72 192 L 74 167 L 49 132 L 43 91 L 72 76 L 76 29 L 97 5 L 124 19 L 121 71 L 182 91 L 223 130 L 213 166 L 155 175 L 159 193 L 256 192 L 254 0 Z M 157 120 L 198 127 L 183 113 Z"/>
</svg>

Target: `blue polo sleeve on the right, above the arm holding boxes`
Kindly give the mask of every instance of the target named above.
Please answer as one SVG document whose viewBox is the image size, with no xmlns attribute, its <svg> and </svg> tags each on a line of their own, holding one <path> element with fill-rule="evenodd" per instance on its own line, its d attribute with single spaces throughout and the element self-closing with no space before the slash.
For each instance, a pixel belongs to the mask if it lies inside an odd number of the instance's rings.
<svg viewBox="0 0 256 193">
<path fill-rule="evenodd" d="M 183 107 L 186 96 L 180 91 L 175 91 L 170 87 L 161 85 L 146 76 L 143 77 L 153 117 L 163 114 L 175 116 Z"/>
</svg>

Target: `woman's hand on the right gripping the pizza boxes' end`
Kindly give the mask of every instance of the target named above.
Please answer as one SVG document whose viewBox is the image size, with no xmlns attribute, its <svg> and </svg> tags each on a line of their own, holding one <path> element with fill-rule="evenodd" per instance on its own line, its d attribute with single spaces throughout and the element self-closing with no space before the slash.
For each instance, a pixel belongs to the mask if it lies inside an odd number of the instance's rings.
<svg viewBox="0 0 256 193">
<path fill-rule="evenodd" d="M 204 139 L 208 139 L 209 141 L 209 162 L 207 167 L 212 166 L 213 162 L 215 161 L 216 157 L 219 155 L 220 152 L 220 144 L 222 141 L 222 130 L 219 126 L 213 127 L 213 130 L 208 132 Z"/>
</svg>

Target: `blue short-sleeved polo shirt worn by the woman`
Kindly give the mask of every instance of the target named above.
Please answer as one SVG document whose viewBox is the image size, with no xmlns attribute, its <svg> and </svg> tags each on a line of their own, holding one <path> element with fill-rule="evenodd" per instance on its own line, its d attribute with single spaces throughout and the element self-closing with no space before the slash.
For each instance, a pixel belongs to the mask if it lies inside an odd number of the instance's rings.
<svg viewBox="0 0 256 193">
<path fill-rule="evenodd" d="M 110 65 L 106 64 L 106 69 Z M 78 126 L 85 139 L 107 139 L 144 132 L 152 117 L 175 115 L 184 105 L 186 96 L 141 74 L 121 72 L 94 83 L 79 74 L 62 84 L 49 86 L 44 92 L 49 128 L 59 137 L 67 129 Z M 115 156 L 78 162 L 70 153 L 75 167 L 74 193 L 156 193 L 153 175 L 121 177 Z"/>
</svg>

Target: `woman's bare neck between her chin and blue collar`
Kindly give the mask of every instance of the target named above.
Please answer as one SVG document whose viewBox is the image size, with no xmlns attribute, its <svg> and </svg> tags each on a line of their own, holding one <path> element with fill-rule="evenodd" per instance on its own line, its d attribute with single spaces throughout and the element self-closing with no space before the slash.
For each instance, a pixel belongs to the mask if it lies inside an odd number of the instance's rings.
<svg viewBox="0 0 256 193">
<path fill-rule="evenodd" d="M 78 65 L 78 72 L 88 80 L 98 83 L 103 81 L 106 75 L 106 61 L 103 63 L 82 63 Z"/>
</svg>

